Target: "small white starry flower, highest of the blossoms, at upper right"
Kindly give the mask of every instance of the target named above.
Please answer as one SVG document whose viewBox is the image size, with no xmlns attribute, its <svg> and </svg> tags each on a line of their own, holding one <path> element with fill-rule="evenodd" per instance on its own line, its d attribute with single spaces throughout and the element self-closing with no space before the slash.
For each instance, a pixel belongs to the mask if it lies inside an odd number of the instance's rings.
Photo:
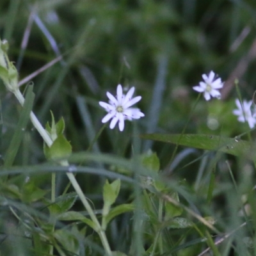
<svg viewBox="0 0 256 256">
<path fill-rule="evenodd" d="M 203 74 L 202 77 L 204 79 L 204 82 L 200 82 L 199 86 L 194 86 L 193 89 L 196 92 L 204 92 L 205 100 L 211 99 L 211 96 L 220 99 L 221 94 L 218 90 L 223 87 L 221 78 L 217 78 L 214 80 L 215 74 L 213 71 L 210 72 L 209 76 Z"/>
</svg>

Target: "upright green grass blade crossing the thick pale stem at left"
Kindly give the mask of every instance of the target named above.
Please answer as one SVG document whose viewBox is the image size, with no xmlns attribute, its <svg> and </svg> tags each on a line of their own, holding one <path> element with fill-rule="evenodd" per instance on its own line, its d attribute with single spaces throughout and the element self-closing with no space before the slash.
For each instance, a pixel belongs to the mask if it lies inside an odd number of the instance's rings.
<svg viewBox="0 0 256 256">
<path fill-rule="evenodd" d="M 24 106 L 20 113 L 19 122 L 4 157 L 4 167 L 12 166 L 15 156 L 17 155 L 22 138 L 24 138 L 25 128 L 28 125 L 29 115 L 33 107 L 34 99 L 35 94 L 33 93 L 33 86 L 28 86 Z"/>
</svg>

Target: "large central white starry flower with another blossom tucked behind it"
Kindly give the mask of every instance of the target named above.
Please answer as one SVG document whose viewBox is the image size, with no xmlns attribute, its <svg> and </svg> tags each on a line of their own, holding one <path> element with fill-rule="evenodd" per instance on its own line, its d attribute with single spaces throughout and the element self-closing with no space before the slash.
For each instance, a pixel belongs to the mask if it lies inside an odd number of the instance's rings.
<svg viewBox="0 0 256 256">
<path fill-rule="evenodd" d="M 137 96 L 132 99 L 135 88 L 132 87 L 126 95 L 123 94 L 123 88 L 121 84 L 118 84 L 116 88 L 116 97 L 107 92 L 109 103 L 100 101 L 99 104 L 104 108 L 108 114 L 102 119 L 102 123 L 108 122 L 111 118 L 110 129 L 113 129 L 118 122 L 119 130 L 124 131 L 124 121 L 139 119 L 145 116 L 140 109 L 130 108 L 132 105 L 141 100 L 141 96 Z"/>
</svg>

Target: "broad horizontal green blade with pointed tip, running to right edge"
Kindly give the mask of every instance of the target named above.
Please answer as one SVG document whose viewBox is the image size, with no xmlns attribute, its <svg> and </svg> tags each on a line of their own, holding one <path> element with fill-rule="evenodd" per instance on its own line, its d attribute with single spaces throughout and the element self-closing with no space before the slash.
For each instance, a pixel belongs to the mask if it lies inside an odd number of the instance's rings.
<svg viewBox="0 0 256 256">
<path fill-rule="evenodd" d="M 143 134 L 141 138 L 204 150 L 215 150 L 233 156 L 243 156 L 252 160 L 256 157 L 256 145 L 248 141 L 239 140 L 239 138 L 205 134 Z"/>
</svg>

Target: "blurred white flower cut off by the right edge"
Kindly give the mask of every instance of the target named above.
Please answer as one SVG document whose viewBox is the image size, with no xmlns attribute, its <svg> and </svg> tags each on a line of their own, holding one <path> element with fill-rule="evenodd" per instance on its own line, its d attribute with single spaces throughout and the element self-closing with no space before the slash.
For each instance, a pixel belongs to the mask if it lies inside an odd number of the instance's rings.
<svg viewBox="0 0 256 256">
<path fill-rule="evenodd" d="M 252 100 L 243 100 L 243 106 L 241 105 L 241 102 L 239 99 L 236 99 L 236 106 L 238 109 L 233 110 L 233 114 L 238 116 L 237 120 L 239 122 L 248 122 L 249 127 L 252 129 L 256 124 L 256 118 L 254 115 L 252 115 L 251 106 L 252 106 Z"/>
</svg>

